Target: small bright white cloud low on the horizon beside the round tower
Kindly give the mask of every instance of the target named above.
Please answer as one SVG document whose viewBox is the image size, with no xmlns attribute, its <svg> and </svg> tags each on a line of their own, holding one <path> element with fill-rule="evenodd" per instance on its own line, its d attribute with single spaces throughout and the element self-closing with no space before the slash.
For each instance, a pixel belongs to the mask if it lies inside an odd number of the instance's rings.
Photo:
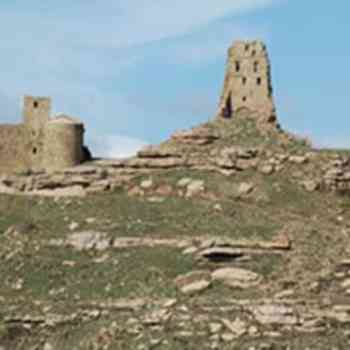
<svg viewBox="0 0 350 350">
<path fill-rule="evenodd" d="M 147 145 L 145 141 L 121 135 L 92 137 L 87 144 L 92 155 L 98 158 L 131 157 Z"/>
</svg>

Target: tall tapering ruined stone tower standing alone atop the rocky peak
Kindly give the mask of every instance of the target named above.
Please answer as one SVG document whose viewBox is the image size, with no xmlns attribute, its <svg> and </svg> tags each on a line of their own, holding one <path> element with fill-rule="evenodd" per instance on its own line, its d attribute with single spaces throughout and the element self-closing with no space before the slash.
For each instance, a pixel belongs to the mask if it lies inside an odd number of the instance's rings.
<svg viewBox="0 0 350 350">
<path fill-rule="evenodd" d="M 276 120 L 269 57 L 260 41 L 237 41 L 228 50 L 217 116 L 230 119 L 244 110 L 259 120 Z"/>
</svg>

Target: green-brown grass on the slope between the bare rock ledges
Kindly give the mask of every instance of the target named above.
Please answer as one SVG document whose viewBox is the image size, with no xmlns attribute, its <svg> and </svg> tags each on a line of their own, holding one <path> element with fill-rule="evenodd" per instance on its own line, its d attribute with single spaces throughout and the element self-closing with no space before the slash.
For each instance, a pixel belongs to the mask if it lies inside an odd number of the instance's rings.
<svg viewBox="0 0 350 350">
<path fill-rule="evenodd" d="M 293 151 L 307 150 L 302 142 L 291 142 L 282 147 L 277 142 L 277 135 L 261 135 L 250 121 L 239 125 L 225 124 L 224 128 L 220 124 L 211 127 L 224 134 L 218 141 L 222 145 L 263 146 L 276 152 L 286 147 Z M 296 170 L 297 166 L 295 169 L 291 166 L 271 176 L 250 170 L 230 177 L 205 171 L 159 172 L 152 175 L 155 185 L 176 188 L 179 179 L 191 177 L 204 180 L 205 193 L 210 194 L 189 199 L 173 194 L 161 203 L 150 203 L 147 196 L 129 197 L 124 189 L 84 199 L 0 195 L 0 276 L 3 281 L 0 315 L 4 319 L 16 313 L 40 315 L 45 307 L 69 315 L 81 312 L 79 305 L 92 300 L 143 297 L 153 300 L 177 298 L 188 305 L 193 317 L 196 316 L 198 310 L 191 305 L 197 298 L 180 295 L 173 280 L 180 274 L 194 269 L 213 269 L 215 265 L 184 256 L 175 248 L 76 252 L 67 247 L 50 246 L 50 239 L 69 234 L 71 222 L 79 224 L 78 230 L 103 231 L 114 238 L 208 235 L 271 240 L 280 233 L 288 233 L 293 241 L 291 252 L 232 263 L 261 273 L 265 278 L 261 289 L 232 290 L 215 283 L 198 300 L 215 306 L 225 304 L 229 298 L 270 297 L 291 287 L 296 296 L 305 300 L 328 297 L 349 301 L 346 295 L 339 294 L 332 273 L 337 261 L 347 258 L 349 253 L 346 222 L 350 218 L 350 199 L 333 193 L 304 191 L 290 177 Z M 142 179 L 134 181 L 139 183 Z M 253 194 L 244 199 L 237 197 L 237 185 L 243 181 L 256 185 Z M 221 212 L 214 210 L 216 204 L 221 205 Z M 337 221 L 340 212 L 343 219 Z M 89 224 L 87 218 L 96 220 Z M 23 224 L 23 232 L 4 234 L 13 224 Z M 17 290 L 19 280 L 23 286 Z M 308 288 L 315 281 L 322 282 L 316 295 Z M 50 339 L 57 349 L 87 349 L 89 340 L 96 340 L 103 327 L 116 322 L 117 330 L 110 348 L 135 349 L 148 344 L 151 338 L 164 336 L 167 342 L 160 347 L 162 349 L 198 349 L 207 345 L 207 325 L 201 322 L 188 325 L 193 335 L 184 343 L 183 339 L 174 337 L 177 330 L 170 326 L 162 330 L 162 335 L 157 329 L 147 328 L 141 336 L 130 337 L 126 332 L 128 327 L 125 327 L 127 320 L 130 321 L 130 315 L 112 312 L 91 322 L 67 322 L 54 328 L 32 325 L 26 329 L 16 323 L 3 322 L 2 326 L 0 323 L 0 344 L 3 342 L 11 349 L 29 349 Z M 300 339 L 291 338 L 289 342 L 296 347 L 309 345 L 328 349 L 327 344 L 334 344 L 334 337 L 339 336 L 334 329 L 327 337 L 320 336 L 320 340 L 305 335 Z M 280 344 L 284 341 L 279 340 Z M 341 338 L 339 342 L 342 341 Z M 236 345 L 244 348 L 240 342 Z M 250 342 L 244 342 L 244 346 Z M 228 345 L 221 345 L 221 348 L 226 346 L 231 348 Z"/>
</svg>

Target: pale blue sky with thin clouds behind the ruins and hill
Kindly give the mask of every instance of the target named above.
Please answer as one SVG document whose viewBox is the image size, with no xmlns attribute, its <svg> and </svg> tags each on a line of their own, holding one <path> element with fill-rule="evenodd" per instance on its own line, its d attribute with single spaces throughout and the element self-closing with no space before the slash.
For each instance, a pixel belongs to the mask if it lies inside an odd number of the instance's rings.
<svg viewBox="0 0 350 350">
<path fill-rule="evenodd" d="M 1 0 L 0 123 L 20 122 L 23 95 L 51 96 L 93 154 L 129 156 L 212 118 L 228 47 L 259 39 L 282 127 L 350 148 L 349 13 L 344 0 Z"/>
</svg>

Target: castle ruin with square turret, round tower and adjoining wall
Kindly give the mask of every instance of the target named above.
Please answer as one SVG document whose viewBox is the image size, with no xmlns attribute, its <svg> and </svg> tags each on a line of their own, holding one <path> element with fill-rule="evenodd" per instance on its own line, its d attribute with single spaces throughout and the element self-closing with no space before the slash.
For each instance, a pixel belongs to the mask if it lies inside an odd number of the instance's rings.
<svg viewBox="0 0 350 350">
<path fill-rule="evenodd" d="M 0 125 L 0 170 L 58 170 L 84 160 L 84 125 L 60 114 L 51 118 L 51 99 L 25 96 L 23 122 Z"/>
</svg>

